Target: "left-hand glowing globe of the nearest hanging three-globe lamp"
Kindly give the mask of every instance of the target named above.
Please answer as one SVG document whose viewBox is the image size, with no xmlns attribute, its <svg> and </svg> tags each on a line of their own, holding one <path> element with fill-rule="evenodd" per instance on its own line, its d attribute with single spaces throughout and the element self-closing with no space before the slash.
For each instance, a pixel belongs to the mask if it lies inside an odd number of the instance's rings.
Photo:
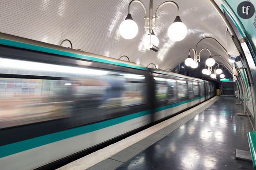
<svg viewBox="0 0 256 170">
<path fill-rule="evenodd" d="M 138 33 L 138 25 L 132 19 L 132 15 L 128 14 L 125 20 L 119 26 L 119 33 L 124 39 L 132 39 Z"/>
</svg>

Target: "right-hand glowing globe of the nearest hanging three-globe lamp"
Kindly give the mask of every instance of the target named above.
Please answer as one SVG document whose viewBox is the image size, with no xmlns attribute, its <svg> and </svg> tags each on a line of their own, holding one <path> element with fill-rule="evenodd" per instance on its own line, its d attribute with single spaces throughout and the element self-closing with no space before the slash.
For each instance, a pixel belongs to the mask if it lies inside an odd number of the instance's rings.
<svg viewBox="0 0 256 170">
<path fill-rule="evenodd" d="M 187 26 L 181 22 L 181 18 L 177 16 L 174 22 L 168 28 L 168 36 L 173 41 L 183 40 L 188 33 Z"/>
</svg>

